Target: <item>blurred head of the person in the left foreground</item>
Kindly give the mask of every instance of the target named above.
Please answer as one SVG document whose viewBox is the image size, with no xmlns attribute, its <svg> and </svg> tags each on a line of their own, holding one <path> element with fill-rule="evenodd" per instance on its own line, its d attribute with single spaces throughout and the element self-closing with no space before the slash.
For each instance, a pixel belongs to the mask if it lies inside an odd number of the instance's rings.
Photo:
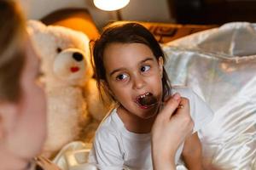
<svg viewBox="0 0 256 170">
<path fill-rule="evenodd" d="M 0 1 L 0 22 L 0 169 L 25 169 L 39 154 L 46 134 L 38 55 L 15 1 Z"/>
</svg>

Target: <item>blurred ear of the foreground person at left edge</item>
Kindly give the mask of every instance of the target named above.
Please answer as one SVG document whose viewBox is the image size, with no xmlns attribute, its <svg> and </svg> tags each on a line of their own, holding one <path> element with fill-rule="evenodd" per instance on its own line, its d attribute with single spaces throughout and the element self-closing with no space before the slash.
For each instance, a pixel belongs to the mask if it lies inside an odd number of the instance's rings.
<svg viewBox="0 0 256 170">
<path fill-rule="evenodd" d="M 15 126 L 18 118 L 18 105 L 0 101 L 0 140 Z"/>
</svg>

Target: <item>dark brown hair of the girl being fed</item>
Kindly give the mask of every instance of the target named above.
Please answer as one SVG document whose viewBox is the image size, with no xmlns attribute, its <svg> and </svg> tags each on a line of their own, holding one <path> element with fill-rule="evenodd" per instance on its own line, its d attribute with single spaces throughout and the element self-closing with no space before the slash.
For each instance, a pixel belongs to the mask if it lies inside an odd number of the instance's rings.
<svg viewBox="0 0 256 170">
<path fill-rule="evenodd" d="M 107 82 L 106 80 L 106 70 L 103 63 L 103 54 L 105 48 L 113 42 L 120 43 L 143 43 L 151 49 L 155 58 L 158 60 L 160 57 L 163 57 L 165 61 L 165 54 L 160 48 L 159 42 L 156 41 L 154 36 L 148 31 L 144 26 L 135 23 L 127 22 L 122 24 L 110 24 L 106 26 L 102 32 L 101 37 L 99 37 L 92 46 L 93 56 L 92 56 L 92 65 L 96 74 L 96 82 L 100 94 L 102 94 L 102 88 L 108 94 L 107 87 L 102 81 Z M 163 88 L 163 97 L 166 94 L 171 93 L 171 85 L 168 80 L 166 70 L 163 68 L 163 77 L 162 77 L 162 88 Z M 108 94 L 112 99 L 113 96 Z"/>
</svg>

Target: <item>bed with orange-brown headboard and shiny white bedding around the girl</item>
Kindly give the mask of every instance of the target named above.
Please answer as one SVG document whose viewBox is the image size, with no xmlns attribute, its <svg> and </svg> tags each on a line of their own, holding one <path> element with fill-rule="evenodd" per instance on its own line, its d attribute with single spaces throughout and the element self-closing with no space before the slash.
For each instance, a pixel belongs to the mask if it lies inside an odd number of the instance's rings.
<svg viewBox="0 0 256 170">
<path fill-rule="evenodd" d="M 61 9 L 42 21 L 83 31 L 91 40 L 99 36 L 84 8 Z M 142 24 L 161 43 L 172 84 L 189 86 L 214 111 L 212 122 L 199 133 L 205 161 L 226 170 L 256 169 L 256 25 Z M 172 28 L 172 34 L 155 31 L 155 26 L 165 26 L 169 32 Z M 182 29 L 187 33 L 177 36 Z M 76 141 L 63 147 L 54 161 L 65 170 L 96 169 L 86 163 L 89 150 L 90 144 Z"/>
</svg>

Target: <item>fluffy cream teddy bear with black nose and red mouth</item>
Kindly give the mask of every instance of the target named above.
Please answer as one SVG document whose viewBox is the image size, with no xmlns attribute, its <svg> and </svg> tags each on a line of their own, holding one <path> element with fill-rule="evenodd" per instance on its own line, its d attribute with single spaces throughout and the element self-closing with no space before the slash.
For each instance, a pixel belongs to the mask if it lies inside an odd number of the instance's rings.
<svg viewBox="0 0 256 170">
<path fill-rule="evenodd" d="M 62 26 L 45 26 L 37 20 L 28 21 L 28 31 L 41 56 L 41 81 L 48 100 L 44 156 L 53 156 L 63 145 L 86 139 L 86 133 L 93 134 L 107 108 L 102 105 L 92 78 L 89 38 L 84 33 Z M 82 128 L 87 130 L 79 137 Z"/>
</svg>

